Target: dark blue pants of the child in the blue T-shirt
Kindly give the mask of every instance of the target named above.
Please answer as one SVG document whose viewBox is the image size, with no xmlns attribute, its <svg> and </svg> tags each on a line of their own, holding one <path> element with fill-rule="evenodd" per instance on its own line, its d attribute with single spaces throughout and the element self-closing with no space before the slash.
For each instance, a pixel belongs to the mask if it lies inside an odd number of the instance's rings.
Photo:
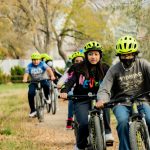
<svg viewBox="0 0 150 150">
<path fill-rule="evenodd" d="M 41 86 L 44 90 L 44 95 L 46 98 L 48 98 L 48 95 L 50 94 L 50 82 L 47 80 L 41 81 Z M 28 90 L 28 102 L 31 109 L 31 112 L 35 111 L 35 104 L 34 104 L 34 96 L 35 96 L 35 90 L 36 90 L 37 84 L 36 83 L 30 83 L 29 84 L 29 90 Z"/>
</svg>

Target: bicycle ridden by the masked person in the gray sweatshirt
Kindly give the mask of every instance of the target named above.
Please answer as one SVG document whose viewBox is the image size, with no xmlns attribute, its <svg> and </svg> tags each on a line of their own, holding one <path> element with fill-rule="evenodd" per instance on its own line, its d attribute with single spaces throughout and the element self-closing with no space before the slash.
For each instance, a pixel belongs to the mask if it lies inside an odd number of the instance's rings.
<svg viewBox="0 0 150 150">
<path fill-rule="evenodd" d="M 132 113 L 129 117 L 129 141 L 131 150 L 150 150 L 150 135 L 145 120 L 145 114 L 140 113 L 138 106 L 147 102 L 144 96 L 150 96 L 150 91 L 142 94 L 112 100 L 106 104 L 107 107 L 113 107 L 118 103 L 131 103 Z"/>
</svg>

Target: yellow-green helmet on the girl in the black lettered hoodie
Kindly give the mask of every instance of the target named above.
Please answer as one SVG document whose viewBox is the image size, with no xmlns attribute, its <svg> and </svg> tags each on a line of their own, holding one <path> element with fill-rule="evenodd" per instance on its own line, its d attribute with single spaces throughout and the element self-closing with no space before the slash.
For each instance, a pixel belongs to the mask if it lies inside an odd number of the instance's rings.
<svg viewBox="0 0 150 150">
<path fill-rule="evenodd" d="M 102 46 L 101 46 L 101 44 L 99 42 L 90 41 L 90 42 L 85 44 L 85 46 L 84 46 L 84 53 L 86 53 L 88 51 L 91 51 L 91 50 L 100 51 L 102 53 L 103 48 L 102 48 Z"/>
</svg>

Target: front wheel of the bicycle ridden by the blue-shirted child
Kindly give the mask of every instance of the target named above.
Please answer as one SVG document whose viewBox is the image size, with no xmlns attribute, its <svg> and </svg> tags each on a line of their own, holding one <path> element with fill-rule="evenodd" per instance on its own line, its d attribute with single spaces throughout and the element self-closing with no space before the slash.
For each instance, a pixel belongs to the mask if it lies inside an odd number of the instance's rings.
<svg viewBox="0 0 150 150">
<path fill-rule="evenodd" d="M 44 101 L 38 91 L 35 95 L 35 107 L 36 107 L 37 117 L 39 122 L 44 121 Z"/>
</svg>

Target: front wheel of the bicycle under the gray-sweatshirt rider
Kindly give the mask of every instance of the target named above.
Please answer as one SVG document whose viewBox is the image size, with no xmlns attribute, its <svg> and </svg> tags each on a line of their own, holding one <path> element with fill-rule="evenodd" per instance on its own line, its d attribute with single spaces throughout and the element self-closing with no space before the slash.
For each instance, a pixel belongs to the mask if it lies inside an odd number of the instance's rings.
<svg viewBox="0 0 150 150">
<path fill-rule="evenodd" d="M 142 122 L 131 123 L 129 129 L 131 150 L 150 150 L 147 131 Z"/>
</svg>

